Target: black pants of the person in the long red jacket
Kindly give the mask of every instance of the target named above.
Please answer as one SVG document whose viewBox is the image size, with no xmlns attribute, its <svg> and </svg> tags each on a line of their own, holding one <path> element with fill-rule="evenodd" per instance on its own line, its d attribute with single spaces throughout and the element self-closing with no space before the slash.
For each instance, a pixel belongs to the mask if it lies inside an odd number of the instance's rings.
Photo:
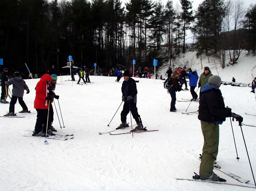
<svg viewBox="0 0 256 191">
<path fill-rule="evenodd" d="M 41 131 L 46 133 L 48 109 L 36 109 L 37 110 L 37 121 L 35 126 L 35 133 Z M 50 127 L 51 121 L 48 120 L 48 127 Z"/>
</svg>

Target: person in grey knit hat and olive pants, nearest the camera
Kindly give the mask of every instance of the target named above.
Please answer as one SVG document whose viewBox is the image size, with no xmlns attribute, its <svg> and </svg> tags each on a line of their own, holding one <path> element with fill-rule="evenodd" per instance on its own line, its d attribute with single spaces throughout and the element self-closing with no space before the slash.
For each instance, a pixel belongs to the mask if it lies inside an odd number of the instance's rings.
<svg viewBox="0 0 256 191">
<path fill-rule="evenodd" d="M 243 118 L 231 112 L 226 107 L 219 89 L 221 78 L 212 75 L 201 88 L 201 96 L 199 101 L 198 119 L 201 122 L 201 129 L 204 138 L 202 148 L 202 161 L 200 163 L 200 179 L 211 179 L 218 181 L 220 178 L 213 172 L 213 164 L 217 159 L 219 146 L 219 124 L 228 117 L 233 117 L 242 125 Z"/>
</svg>

